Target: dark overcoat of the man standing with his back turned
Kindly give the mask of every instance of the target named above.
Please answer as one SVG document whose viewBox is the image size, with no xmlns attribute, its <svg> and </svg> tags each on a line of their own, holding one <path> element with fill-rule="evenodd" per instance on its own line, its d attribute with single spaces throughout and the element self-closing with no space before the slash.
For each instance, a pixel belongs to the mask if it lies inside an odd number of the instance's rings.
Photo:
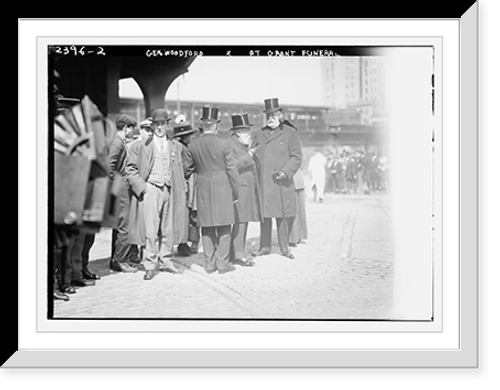
<svg viewBox="0 0 500 390">
<path fill-rule="evenodd" d="M 198 175 L 196 201 L 200 226 L 234 224 L 238 168 L 228 140 L 216 134 L 202 134 L 188 149 Z"/>
</svg>

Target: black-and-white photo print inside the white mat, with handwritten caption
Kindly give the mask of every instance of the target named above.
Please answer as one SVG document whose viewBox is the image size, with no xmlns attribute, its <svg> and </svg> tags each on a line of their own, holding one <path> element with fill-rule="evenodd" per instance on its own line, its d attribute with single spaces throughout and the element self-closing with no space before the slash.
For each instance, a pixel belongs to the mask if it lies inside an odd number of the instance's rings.
<svg viewBox="0 0 500 390">
<path fill-rule="evenodd" d="M 47 318 L 432 322 L 436 50 L 48 45 Z"/>
</svg>

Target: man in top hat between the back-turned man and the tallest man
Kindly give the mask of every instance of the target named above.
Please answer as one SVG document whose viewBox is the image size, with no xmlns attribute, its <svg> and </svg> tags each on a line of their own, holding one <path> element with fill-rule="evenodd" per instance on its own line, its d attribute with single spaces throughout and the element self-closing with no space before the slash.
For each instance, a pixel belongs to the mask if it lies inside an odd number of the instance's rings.
<svg viewBox="0 0 500 390">
<path fill-rule="evenodd" d="M 248 120 L 248 114 L 234 114 L 231 120 L 233 127 L 229 144 L 233 148 L 239 175 L 238 202 L 234 204 L 235 223 L 231 234 L 231 260 L 235 264 L 250 267 L 255 263 L 245 255 L 248 222 L 261 220 L 257 164 L 254 160 L 256 148 L 252 147 L 253 125 Z"/>
</svg>

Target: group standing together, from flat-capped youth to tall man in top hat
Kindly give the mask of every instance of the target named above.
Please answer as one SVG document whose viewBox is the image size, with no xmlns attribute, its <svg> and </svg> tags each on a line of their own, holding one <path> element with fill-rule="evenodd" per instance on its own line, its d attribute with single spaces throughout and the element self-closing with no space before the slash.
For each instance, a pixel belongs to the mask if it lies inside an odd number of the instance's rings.
<svg viewBox="0 0 500 390">
<path fill-rule="evenodd" d="M 283 120 L 277 98 L 266 99 L 264 105 L 266 126 L 253 130 L 247 114 L 234 114 L 227 138 L 218 136 L 219 109 L 212 106 L 202 108 L 198 137 L 186 121 L 174 124 L 173 136 L 168 136 L 172 118 L 167 110 L 155 109 L 140 124 L 149 133 L 129 146 L 125 140 L 137 122 L 127 115 L 117 117 L 110 174 L 119 172 L 125 184 L 112 269 L 136 272 L 140 259 L 145 280 L 161 270 L 180 273 L 172 262 L 174 246 L 179 252 L 197 252 L 200 230 L 207 273 L 234 271 L 235 264 L 253 266 L 253 256 L 271 253 L 272 219 L 282 255 L 294 258 L 289 236 L 297 214 L 299 135 Z M 247 256 L 252 221 L 260 222 L 260 247 Z"/>
</svg>

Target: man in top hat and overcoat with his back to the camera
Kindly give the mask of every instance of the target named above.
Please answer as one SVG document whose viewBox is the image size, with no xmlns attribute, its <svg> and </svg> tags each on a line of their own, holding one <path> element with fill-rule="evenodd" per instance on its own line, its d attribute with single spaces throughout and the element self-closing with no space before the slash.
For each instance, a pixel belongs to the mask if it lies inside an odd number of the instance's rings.
<svg viewBox="0 0 500 390">
<path fill-rule="evenodd" d="M 201 226 L 207 273 L 234 271 L 229 262 L 231 225 L 238 200 L 238 168 L 233 149 L 217 135 L 220 120 L 217 107 L 203 107 L 200 118 L 203 134 L 189 144 L 198 174 L 198 220 Z"/>
</svg>

